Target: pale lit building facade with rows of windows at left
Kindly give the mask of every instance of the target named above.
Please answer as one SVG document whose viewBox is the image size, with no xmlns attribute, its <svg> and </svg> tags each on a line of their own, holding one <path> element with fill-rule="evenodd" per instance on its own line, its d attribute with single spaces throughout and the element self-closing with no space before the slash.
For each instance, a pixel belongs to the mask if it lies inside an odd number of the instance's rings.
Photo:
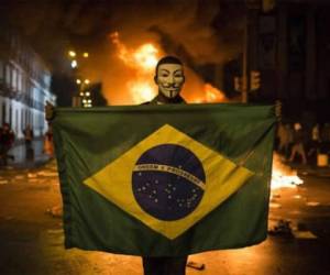
<svg viewBox="0 0 330 275">
<path fill-rule="evenodd" d="M 56 97 L 51 92 L 51 72 L 14 30 L 0 32 L 0 127 L 9 123 L 16 139 L 29 124 L 34 136 L 47 131 L 44 107 Z"/>
</svg>

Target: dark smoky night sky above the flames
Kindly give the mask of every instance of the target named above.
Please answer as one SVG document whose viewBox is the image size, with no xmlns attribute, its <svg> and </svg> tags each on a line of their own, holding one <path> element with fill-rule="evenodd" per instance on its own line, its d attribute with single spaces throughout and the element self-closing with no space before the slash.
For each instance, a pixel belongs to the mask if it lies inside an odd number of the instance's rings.
<svg viewBox="0 0 330 275">
<path fill-rule="evenodd" d="M 229 4 L 230 3 L 230 4 Z M 1 0 L 1 16 L 16 26 L 53 69 L 69 47 L 100 52 L 119 31 L 125 43 L 157 40 L 180 46 L 198 63 L 223 61 L 241 44 L 242 1 Z M 219 51 L 221 48 L 221 51 Z"/>
</svg>

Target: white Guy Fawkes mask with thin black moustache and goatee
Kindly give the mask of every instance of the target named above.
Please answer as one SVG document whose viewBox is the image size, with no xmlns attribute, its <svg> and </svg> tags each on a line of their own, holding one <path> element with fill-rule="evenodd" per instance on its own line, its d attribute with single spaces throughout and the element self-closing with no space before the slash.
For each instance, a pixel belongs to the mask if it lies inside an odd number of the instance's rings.
<svg viewBox="0 0 330 275">
<path fill-rule="evenodd" d="M 175 98 L 185 82 L 184 67 L 179 64 L 161 64 L 155 81 L 160 92 L 167 98 Z"/>
</svg>

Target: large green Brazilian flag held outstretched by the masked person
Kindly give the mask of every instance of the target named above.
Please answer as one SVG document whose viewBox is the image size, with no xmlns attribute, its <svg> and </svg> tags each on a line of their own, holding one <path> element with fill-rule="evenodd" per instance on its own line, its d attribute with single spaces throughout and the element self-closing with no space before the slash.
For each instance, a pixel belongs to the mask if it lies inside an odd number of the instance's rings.
<svg viewBox="0 0 330 275">
<path fill-rule="evenodd" d="M 58 108 L 66 248 L 178 256 L 266 238 L 272 106 Z"/>
</svg>

